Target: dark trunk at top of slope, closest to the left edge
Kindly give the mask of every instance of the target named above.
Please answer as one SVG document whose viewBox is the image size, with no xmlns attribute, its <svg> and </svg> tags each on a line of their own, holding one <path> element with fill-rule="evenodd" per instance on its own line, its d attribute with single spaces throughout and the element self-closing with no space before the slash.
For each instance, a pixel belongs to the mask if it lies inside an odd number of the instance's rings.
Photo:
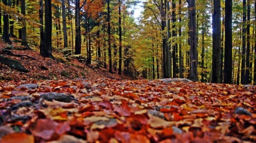
<svg viewBox="0 0 256 143">
<path fill-rule="evenodd" d="M 8 5 L 7 0 L 3 0 L 2 1 L 4 5 Z M 3 40 L 8 43 L 8 44 L 12 44 L 10 37 L 9 37 L 9 14 L 7 14 L 6 12 L 3 12 L 3 22 L 4 22 L 4 26 L 3 26 Z"/>
</svg>

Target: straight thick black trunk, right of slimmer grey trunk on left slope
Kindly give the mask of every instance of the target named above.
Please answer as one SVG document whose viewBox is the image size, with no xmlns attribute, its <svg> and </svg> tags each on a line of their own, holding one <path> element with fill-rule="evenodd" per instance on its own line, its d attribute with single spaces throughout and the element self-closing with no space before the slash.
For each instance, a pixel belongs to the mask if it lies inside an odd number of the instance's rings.
<svg viewBox="0 0 256 143">
<path fill-rule="evenodd" d="M 76 0 L 76 40 L 75 40 L 75 55 L 81 54 L 81 24 L 80 24 L 80 1 Z"/>
</svg>

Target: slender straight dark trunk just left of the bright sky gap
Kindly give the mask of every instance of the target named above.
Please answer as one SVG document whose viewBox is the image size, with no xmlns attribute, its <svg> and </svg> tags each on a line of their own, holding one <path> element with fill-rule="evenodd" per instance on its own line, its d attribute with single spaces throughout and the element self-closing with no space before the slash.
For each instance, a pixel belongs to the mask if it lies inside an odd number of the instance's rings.
<svg viewBox="0 0 256 143">
<path fill-rule="evenodd" d="M 118 24 L 119 24 L 119 65 L 118 65 L 118 74 L 122 74 L 122 27 L 121 27 L 121 0 L 118 0 Z"/>
</svg>

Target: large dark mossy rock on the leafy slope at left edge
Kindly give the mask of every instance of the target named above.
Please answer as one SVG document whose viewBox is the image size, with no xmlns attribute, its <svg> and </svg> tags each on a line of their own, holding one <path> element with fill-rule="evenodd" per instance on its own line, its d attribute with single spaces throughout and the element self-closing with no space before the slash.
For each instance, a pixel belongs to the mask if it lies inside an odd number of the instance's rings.
<svg viewBox="0 0 256 143">
<path fill-rule="evenodd" d="M 7 57 L 3 57 L 0 56 L 0 63 L 3 63 L 7 66 L 9 66 L 12 69 L 15 69 L 17 71 L 21 71 L 21 72 L 29 72 L 29 70 L 27 70 L 21 63 L 19 63 L 16 60 L 12 60 L 10 58 Z"/>
</svg>

